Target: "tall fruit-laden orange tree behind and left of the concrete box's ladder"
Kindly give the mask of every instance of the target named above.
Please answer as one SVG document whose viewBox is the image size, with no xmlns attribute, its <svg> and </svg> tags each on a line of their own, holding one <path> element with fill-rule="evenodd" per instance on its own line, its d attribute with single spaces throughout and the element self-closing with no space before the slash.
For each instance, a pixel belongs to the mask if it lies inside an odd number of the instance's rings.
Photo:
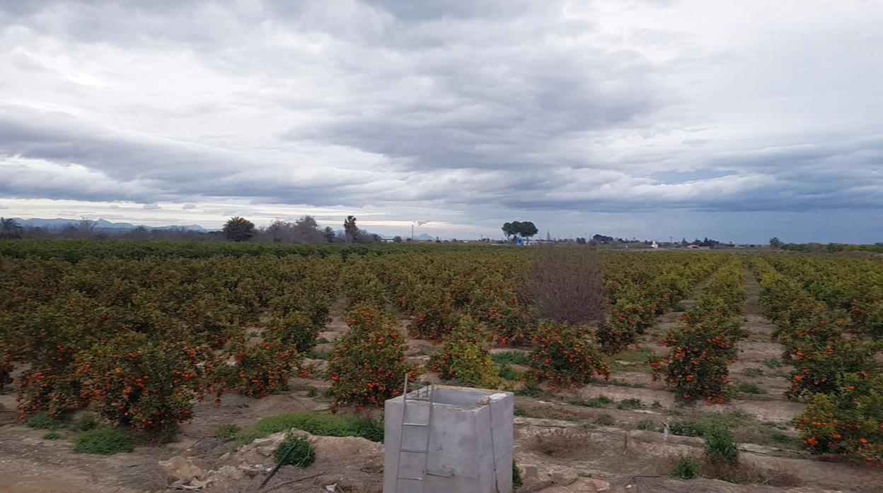
<svg viewBox="0 0 883 493">
<path fill-rule="evenodd" d="M 383 406 L 402 393 L 405 373 L 416 376 L 416 368 L 404 362 L 406 346 L 396 320 L 370 303 L 352 307 L 344 320 L 350 331 L 335 341 L 328 362 L 331 408 Z"/>
</svg>

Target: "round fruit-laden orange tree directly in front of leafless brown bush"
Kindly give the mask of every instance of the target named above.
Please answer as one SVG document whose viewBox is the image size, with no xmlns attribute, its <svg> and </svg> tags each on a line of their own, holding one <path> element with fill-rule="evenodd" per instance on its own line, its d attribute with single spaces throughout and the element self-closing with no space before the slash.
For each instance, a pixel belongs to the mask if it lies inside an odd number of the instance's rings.
<svg viewBox="0 0 883 493">
<path fill-rule="evenodd" d="M 585 385 L 595 375 L 610 375 L 607 358 L 586 331 L 566 323 L 543 320 L 533 341 L 537 348 L 530 355 L 531 377 L 547 380 L 552 388 L 567 389 Z"/>
</svg>

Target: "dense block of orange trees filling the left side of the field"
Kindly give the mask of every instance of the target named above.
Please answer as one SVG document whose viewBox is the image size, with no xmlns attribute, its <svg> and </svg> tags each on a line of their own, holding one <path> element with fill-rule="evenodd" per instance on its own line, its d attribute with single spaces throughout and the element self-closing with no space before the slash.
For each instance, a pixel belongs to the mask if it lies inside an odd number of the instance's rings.
<svg viewBox="0 0 883 493">
<path fill-rule="evenodd" d="M 90 406 L 164 439 L 209 392 L 281 389 L 326 324 L 340 265 L 0 258 L 0 370 L 21 365 L 22 415 Z"/>
</svg>

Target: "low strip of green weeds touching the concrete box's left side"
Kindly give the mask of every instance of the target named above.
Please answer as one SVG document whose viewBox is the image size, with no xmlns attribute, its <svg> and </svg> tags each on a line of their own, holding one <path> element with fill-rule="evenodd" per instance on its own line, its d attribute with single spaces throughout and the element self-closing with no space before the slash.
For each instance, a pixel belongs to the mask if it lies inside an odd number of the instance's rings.
<svg viewBox="0 0 883 493">
<path fill-rule="evenodd" d="M 383 441 L 383 422 L 367 417 L 318 415 L 296 411 L 269 416 L 254 426 L 255 434 L 266 437 L 292 428 L 325 437 L 363 437 L 374 442 Z"/>
</svg>

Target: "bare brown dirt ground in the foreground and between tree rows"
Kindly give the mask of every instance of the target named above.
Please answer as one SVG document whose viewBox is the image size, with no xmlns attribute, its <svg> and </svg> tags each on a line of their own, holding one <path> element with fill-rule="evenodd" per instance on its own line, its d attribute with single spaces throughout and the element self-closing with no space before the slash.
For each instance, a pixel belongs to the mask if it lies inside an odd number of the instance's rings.
<svg viewBox="0 0 883 493">
<path fill-rule="evenodd" d="M 774 327 L 760 312 L 758 285 L 750 273 L 745 276 L 745 291 L 744 326 L 751 331 L 751 338 L 740 342 L 739 359 L 731 365 L 730 376 L 734 384 L 757 385 L 764 393 L 741 393 L 723 406 L 684 407 L 675 402 L 665 385 L 653 382 L 647 365 L 615 361 L 609 382 L 585 385 L 568 395 L 517 397 L 521 415 L 515 418 L 514 452 L 519 466 L 536 467 L 540 475 L 557 472 L 576 478 L 568 486 L 541 489 L 549 493 L 592 491 L 592 479 L 608 482 L 610 491 L 623 493 L 883 491 L 883 473 L 877 469 L 822 461 L 793 444 L 796 430 L 791 428 L 790 421 L 803 405 L 782 397 L 788 387 L 788 368 L 776 363 L 782 348 L 769 340 Z M 700 293 L 701 287 L 696 295 Z M 686 308 L 691 303 L 692 300 L 684 300 L 680 306 Z M 643 346 L 653 352 L 665 352 L 655 341 L 661 332 L 677 324 L 682 313 L 661 316 L 645 335 Z M 405 325 L 403 321 L 403 330 Z M 321 337 L 328 343 L 319 349 L 330 348 L 331 342 L 348 327 L 335 317 L 327 329 Z M 425 340 L 409 340 L 409 347 L 408 357 L 415 362 L 426 361 L 427 355 L 437 349 Z M 325 362 L 310 363 L 321 368 Z M 432 375 L 424 379 L 437 380 Z M 0 394 L 0 493 L 166 491 L 170 479 L 159 462 L 176 456 L 189 458 L 205 471 L 239 467 L 242 477 L 215 482 L 207 491 L 256 491 L 273 465 L 272 457 L 256 453 L 255 445 L 237 451 L 228 441 L 211 435 L 225 424 L 237 424 L 247 430 L 269 415 L 327 410 L 328 400 L 322 397 L 327 382 L 294 378 L 290 387 L 289 392 L 260 400 L 225 395 L 219 406 L 211 400 L 202 401 L 194 410 L 194 420 L 182 426 L 177 442 L 138 447 L 135 452 L 109 457 L 75 454 L 68 440 L 42 439 L 46 430 L 29 429 L 15 419 L 14 388 L 8 389 Z M 600 396 L 611 402 L 600 407 L 579 405 L 580 400 Z M 640 405 L 630 408 L 621 404 L 630 399 L 640 400 Z M 740 442 L 743 467 L 763 474 L 771 484 L 682 481 L 668 477 L 679 457 L 702 455 L 703 440 L 676 436 L 668 433 L 667 427 L 677 420 L 711 414 L 739 422 L 734 433 Z M 776 441 L 776 434 L 785 442 Z M 326 486 L 336 484 L 337 491 L 379 492 L 381 479 L 381 444 L 353 437 L 322 437 L 313 466 L 283 467 L 261 491 L 327 491 Z"/>
</svg>

